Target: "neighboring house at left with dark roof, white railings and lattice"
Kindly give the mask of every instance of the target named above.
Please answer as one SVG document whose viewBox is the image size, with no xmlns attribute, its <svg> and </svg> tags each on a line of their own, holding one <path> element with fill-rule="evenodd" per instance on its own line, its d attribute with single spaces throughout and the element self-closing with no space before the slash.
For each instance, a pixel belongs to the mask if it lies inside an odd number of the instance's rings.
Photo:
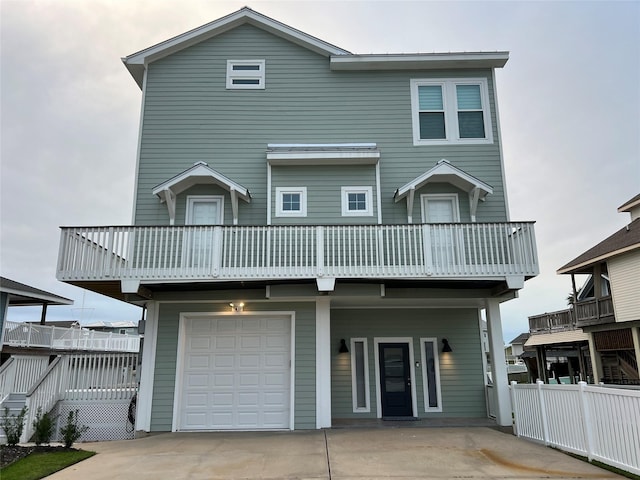
<svg viewBox="0 0 640 480">
<path fill-rule="evenodd" d="M 40 409 L 58 418 L 58 427 L 68 412 L 79 412 L 81 423 L 91 427 L 83 440 L 131 438 L 127 411 L 137 387 L 140 337 L 92 331 L 76 321 L 46 321 L 47 305 L 73 301 L 0 280 L 0 412 L 17 415 L 27 407 L 21 442 L 29 441 Z M 43 306 L 39 322 L 6 319 L 9 307 L 33 305 Z"/>
</svg>

